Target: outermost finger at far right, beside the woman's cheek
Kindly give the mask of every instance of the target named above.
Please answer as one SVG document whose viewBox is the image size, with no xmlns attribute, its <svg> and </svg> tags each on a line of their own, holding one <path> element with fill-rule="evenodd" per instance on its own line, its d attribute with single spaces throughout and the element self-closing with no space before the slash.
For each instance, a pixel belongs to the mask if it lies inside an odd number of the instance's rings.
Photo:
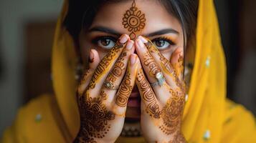
<svg viewBox="0 0 256 143">
<path fill-rule="evenodd" d="M 174 67 L 177 76 L 180 80 L 183 79 L 184 73 L 184 52 L 181 47 L 177 48 L 173 54 L 171 54 L 171 65 Z"/>
</svg>

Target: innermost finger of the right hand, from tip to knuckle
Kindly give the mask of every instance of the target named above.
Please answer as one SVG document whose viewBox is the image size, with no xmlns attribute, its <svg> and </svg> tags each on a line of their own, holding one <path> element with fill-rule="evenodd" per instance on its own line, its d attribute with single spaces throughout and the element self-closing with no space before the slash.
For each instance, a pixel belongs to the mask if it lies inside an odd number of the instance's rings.
<svg viewBox="0 0 256 143">
<path fill-rule="evenodd" d="M 149 116 L 159 119 L 161 112 L 158 100 L 141 68 L 139 62 L 136 84 L 141 95 L 141 112 L 142 114 L 146 112 Z"/>
</svg>

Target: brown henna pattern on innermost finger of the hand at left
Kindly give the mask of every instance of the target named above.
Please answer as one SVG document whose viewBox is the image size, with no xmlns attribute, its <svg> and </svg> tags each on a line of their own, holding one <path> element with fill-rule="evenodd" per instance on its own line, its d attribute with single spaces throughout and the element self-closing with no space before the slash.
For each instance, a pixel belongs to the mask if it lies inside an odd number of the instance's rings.
<svg viewBox="0 0 256 143">
<path fill-rule="evenodd" d="M 118 93 L 116 94 L 115 103 L 118 104 L 118 106 L 120 107 L 126 107 L 128 98 L 132 90 L 133 90 L 133 85 L 131 85 L 131 74 L 127 72 L 125 74 L 125 78 L 123 79 L 123 82 L 120 88 L 118 89 Z"/>
</svg>

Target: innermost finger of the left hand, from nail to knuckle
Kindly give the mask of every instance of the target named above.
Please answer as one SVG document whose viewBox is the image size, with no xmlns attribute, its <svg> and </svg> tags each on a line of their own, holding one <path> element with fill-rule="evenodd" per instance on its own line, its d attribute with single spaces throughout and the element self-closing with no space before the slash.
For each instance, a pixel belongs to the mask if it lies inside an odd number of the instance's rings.
<svg viewBox="0 0 256 143">
<path fill-rule="evenodd" d="M 132 54 L 125 77 L 118 89 L 118 93 L 115 95 L 114 111 L 117 114 L 125 115 L 127 108 L 128 98 L 131 95 L 133 86 L 135 84 L 136 74 L 138 70 L 138 56 Z"/>
</svg>

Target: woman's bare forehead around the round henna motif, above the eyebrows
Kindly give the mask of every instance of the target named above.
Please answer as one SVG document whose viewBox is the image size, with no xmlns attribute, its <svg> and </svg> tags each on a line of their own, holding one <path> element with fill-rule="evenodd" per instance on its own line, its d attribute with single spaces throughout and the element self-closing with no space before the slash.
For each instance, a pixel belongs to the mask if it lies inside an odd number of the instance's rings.
<svg viewBox="0 0 256 143">
<path fill-rule="evenodd" d="M 115 29 L 115 31 L 121 34 L 129 34 L 128 29 L 123 25 L 123 18 L 125 17 L 126 11 L 132 7 L 132 4 L 133 1 L 104 4 L 96 14 L 91 27 L 105 26 L 110 29 Z M 137 0 L 136 7 L 138 11 L 145 14 L 145 26 L 140 31 L 142 35 L 169 28 L 181 31 L 179 21 L 158 1 Z"/>
</svg>

